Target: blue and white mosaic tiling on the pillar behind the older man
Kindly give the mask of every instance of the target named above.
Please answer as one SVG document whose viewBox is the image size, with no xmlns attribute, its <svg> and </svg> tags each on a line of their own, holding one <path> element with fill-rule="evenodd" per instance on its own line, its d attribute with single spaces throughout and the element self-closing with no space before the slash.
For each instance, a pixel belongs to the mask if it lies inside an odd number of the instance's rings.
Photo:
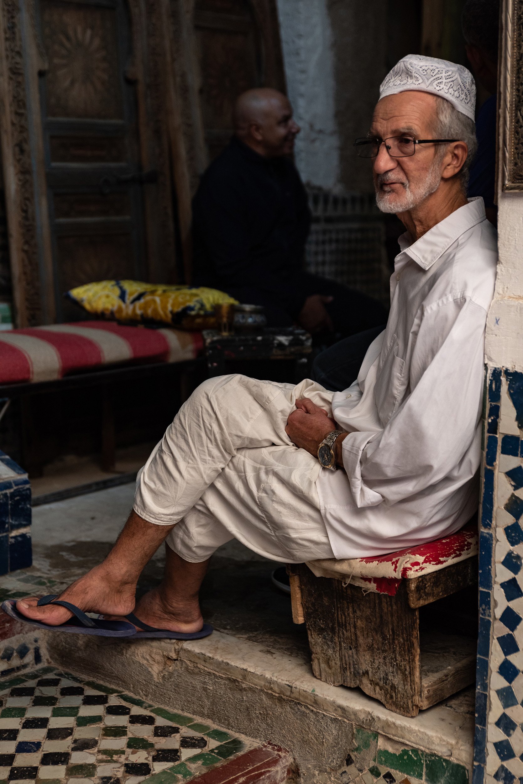
<svg viewBox="0 0 523 784">
<path fill-rule="evenodd" d="M 523 373 L 487 383 L 473 784 L 523 784 Z"/>
</svg>

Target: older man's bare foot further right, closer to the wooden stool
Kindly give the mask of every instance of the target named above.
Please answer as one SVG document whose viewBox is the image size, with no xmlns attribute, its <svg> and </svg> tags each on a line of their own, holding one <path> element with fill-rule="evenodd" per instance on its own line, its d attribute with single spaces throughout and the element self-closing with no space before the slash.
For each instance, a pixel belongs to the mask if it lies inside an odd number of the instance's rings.
<svg viewBox="0 0 523 784">
<path fill-rule="evenodd" d="M 172 595 L 172 592 L 165 589 L 163 583 L 142 596 L 136 604 L 134 613 L 147 626 L 171 632 L 199 632 L 204 626 L 198 599 L 179 600 Z M 104 618 L 114 621 L 125 620 L 116 615 L 104 615 Z M 139 626 L 136 626 L 136 629 L 143 631 Z"/>
</svg>

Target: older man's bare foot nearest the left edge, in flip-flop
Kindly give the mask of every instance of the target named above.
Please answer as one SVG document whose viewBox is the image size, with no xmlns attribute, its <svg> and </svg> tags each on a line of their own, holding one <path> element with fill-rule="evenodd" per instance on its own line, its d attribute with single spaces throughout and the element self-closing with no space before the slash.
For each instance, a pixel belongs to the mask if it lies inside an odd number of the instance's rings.
<svg viewBox="0 0 523 784">
<path fill-rule="evenodd" d="M 118 582 L 104 564 L 96 566 L 72 583 L 58 599 L 75 604 L 84 612 L 127 615 L 135 606 L 135 583 Z M 56 604 L 37 607 L 37 597 L 27 597 L 16 602 L 16 609 L 26 618 L 51 626 L 60 626 L 72 617 L 66 608 Z"/>
</svg>

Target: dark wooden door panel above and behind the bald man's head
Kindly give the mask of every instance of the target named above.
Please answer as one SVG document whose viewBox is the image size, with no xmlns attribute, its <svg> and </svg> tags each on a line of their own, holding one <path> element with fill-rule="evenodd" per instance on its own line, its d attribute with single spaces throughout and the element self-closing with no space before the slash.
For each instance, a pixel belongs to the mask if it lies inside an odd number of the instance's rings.
<svg viewBox="0 0 523 784">
<path fill-rule="evenodd" d="M 200 107 L 209 158 L 233 133 L 236 97 L 251 87 L 285 90 L 280 31 L 273 0 L 197 0 Z"/>
</svg>

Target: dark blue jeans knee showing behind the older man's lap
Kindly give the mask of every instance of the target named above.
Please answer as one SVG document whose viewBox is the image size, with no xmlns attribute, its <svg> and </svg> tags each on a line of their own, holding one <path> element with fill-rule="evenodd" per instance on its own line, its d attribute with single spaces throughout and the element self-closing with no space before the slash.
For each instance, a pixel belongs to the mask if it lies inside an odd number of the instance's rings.
<svg viewBox="0 0 523 784">
<path fill-rule="evenodd" d="M 346 390 L 358 378 L 370 343 L 384 331 L 385 326 L 357 332 L 322 351 L 312 363 L 312 380 L 330 392 Z"/>
</svg>

